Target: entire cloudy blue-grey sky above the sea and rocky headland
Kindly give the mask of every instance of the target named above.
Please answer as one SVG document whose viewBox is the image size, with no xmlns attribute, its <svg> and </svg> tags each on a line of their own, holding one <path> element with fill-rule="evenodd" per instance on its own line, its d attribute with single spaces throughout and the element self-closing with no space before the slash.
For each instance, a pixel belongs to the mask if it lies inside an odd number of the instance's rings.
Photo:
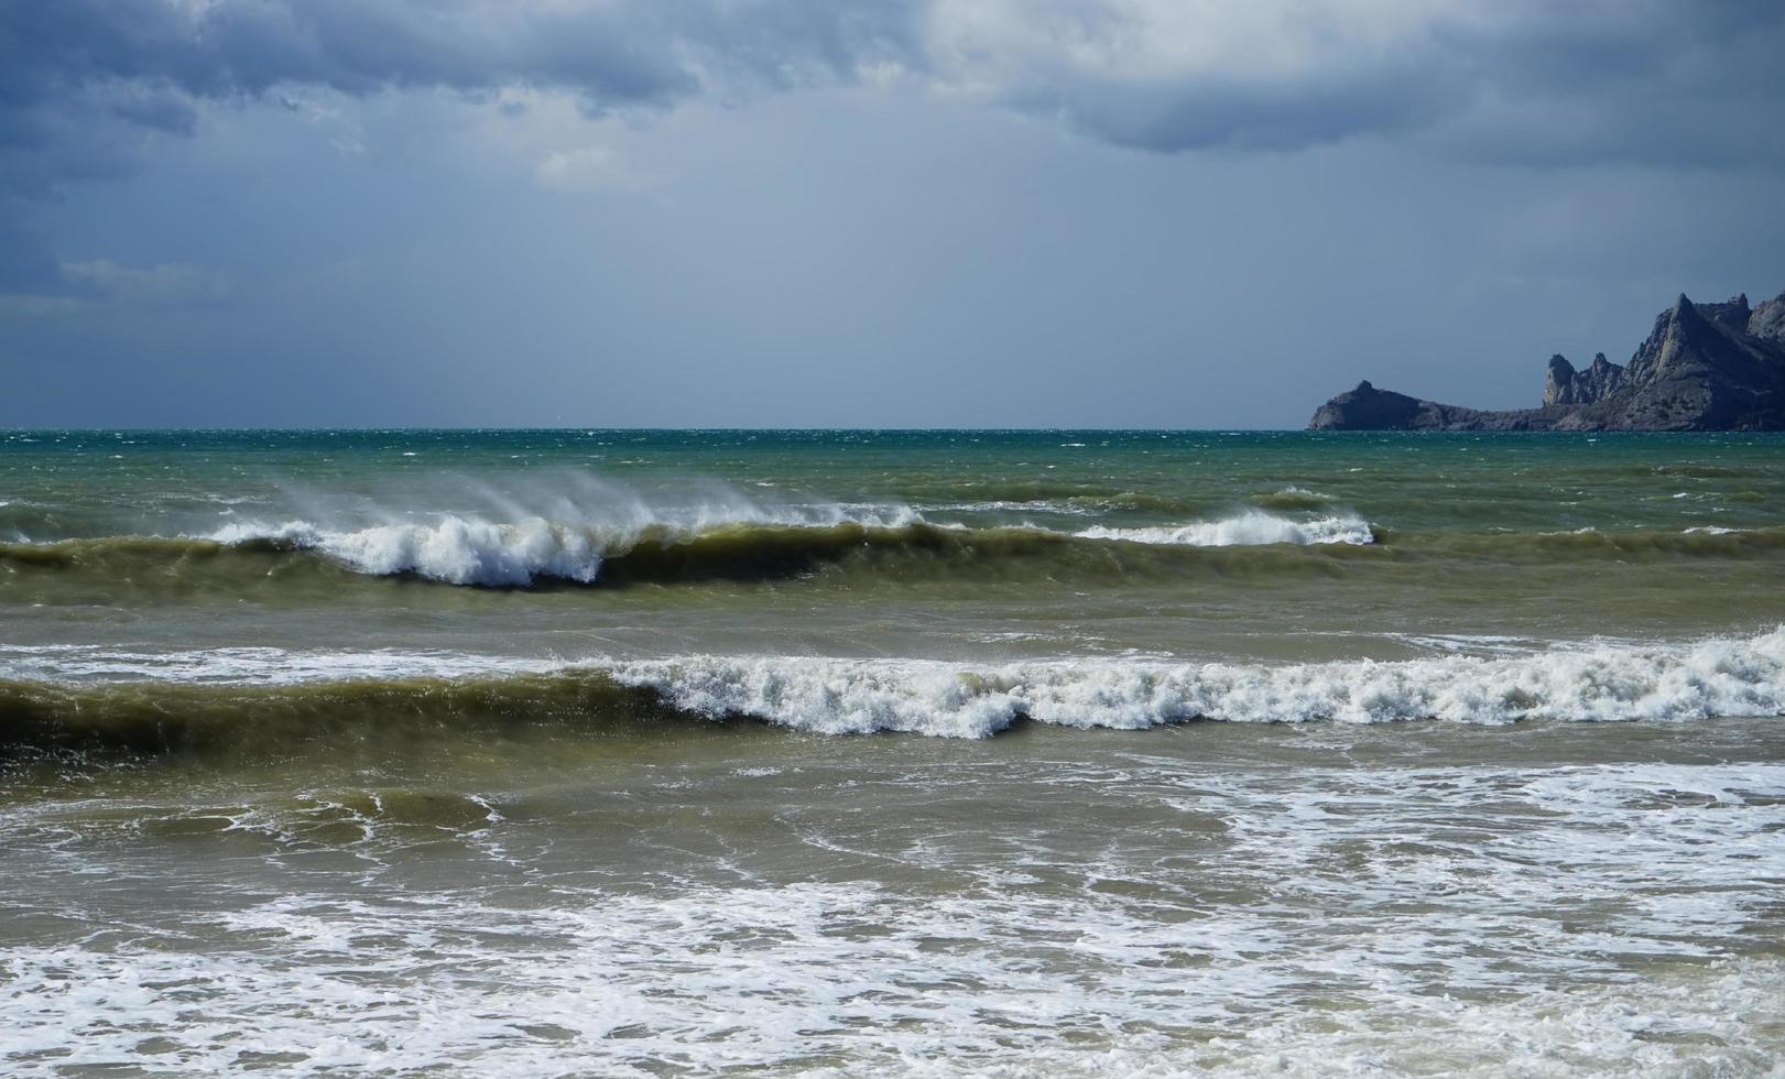
<svg viewBox="0 0 1785 1079">
<path fill-rule="evenodd" d="M 1785 289 L 1778 0 L 0 0 L 0 426 L 1298 428 Z"/>
</svg>

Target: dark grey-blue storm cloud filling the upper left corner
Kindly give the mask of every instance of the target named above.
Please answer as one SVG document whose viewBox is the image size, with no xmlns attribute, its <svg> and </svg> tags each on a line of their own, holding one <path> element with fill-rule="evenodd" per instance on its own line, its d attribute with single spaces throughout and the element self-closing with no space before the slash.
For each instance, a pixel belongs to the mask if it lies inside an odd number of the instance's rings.
<svg viewBox="0 0 1785 1079">
<path fill-rule="evenodd" d="M 0 0 L 0 280 L 66 289 L 23 209 L 130 175 L 155 137 L 195 134 L 207 102 L 530 86 L 591 112 L 662 107 L 846 80 L 905 55 L 909 16 L 866 0 Z"/>
</svg>

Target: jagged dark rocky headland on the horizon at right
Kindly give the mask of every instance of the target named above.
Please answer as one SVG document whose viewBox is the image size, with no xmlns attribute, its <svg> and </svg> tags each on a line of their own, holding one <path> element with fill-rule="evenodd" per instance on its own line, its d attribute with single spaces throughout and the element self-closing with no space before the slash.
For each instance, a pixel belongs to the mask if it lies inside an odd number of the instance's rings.
<svg viewBox="0 0 1785 1079">
<path fill-rule="evenodd" d="M 1655 319 L 1628 364 L 1599 353 L 1585 369 L 1549 357 L 1539 408 L 1439 405 L 1360 382 L 1314 412 L 1308 430 L 1728 432 L 1785 430 L 1785 292 L 1692 303 Z"/>
</svg>

